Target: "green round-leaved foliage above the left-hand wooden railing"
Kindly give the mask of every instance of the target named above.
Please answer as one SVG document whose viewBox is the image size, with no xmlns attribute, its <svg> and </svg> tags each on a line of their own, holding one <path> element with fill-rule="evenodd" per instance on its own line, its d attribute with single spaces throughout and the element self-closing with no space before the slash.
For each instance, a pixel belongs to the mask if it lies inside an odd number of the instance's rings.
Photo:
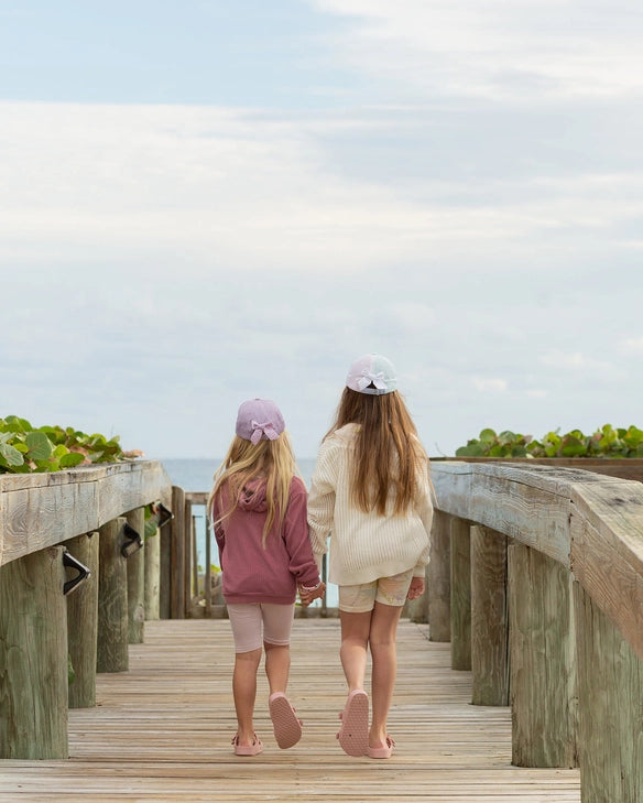
<svg viewBox="0 0 643 803">
<path fill-rule="evenodd" d="M 0 474 L 59 471 L 94 463 L 118 463 L 139 457 L 123 452 L 118 436 L 86 435 L 68 426 L 33 427 L 26 419 L 0 419 Z"/>
</svg>

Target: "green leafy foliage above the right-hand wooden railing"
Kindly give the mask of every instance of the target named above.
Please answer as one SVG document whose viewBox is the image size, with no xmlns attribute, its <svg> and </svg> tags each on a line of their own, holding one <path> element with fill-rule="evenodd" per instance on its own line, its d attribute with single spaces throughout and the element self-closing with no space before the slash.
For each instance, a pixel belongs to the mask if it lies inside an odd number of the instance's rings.
<svg viewBox="0 0 643 803">
<path fill-rule="evenodd" d="M 548 432 L 541 441 L 531 435 L 510 431 L 497 434 L 482 430 L 479 437 L 467 441 L 456 449 L 456 457 L 643 457 L 643 430 L 626 430 L 604 424 L 591 435 L 573 430 L 565 435 L 559 430 Z"/>
</svg>

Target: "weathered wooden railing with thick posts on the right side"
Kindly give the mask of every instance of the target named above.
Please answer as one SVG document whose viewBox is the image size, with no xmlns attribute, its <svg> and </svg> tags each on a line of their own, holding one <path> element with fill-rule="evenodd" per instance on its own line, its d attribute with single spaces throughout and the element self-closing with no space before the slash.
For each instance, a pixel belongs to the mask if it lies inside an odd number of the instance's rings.
<svg viewBox="0 0 643 803">
<path fill-rule="evenodd" d="M 514 764 L 579 766 L 584 803 L 641 803 L 643 485 L 505 462 L 433 479 L 431 638 L 473 704 L 511 705 Z"/>
</svg>

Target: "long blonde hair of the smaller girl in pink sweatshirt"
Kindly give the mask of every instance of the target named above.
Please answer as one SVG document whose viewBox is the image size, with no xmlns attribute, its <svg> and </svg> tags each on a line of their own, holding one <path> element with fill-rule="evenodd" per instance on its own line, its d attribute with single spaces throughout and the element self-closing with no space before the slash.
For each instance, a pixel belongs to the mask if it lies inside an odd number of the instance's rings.
<svg viewBox="0 0 643 803">
<path fill-rule="evenodd" d="M 268 514 L 263 525 L 263 547 L 268 534 L 275 524 L 281 528 L 288 506 L 291 480 L 299 476 L 291 441 L 286 432 L 275 441 L 261 440 L 255 445 L 239 435 L 230 444 L 222 464 L 215 471 L 212 489 L 207 501 L 207 513 L 214 517 L 215 498 L 225 509 L 215 521 L 218 524 L 232 516 L 243 488 L 253 480 L 265 480 Z"/>
</svg>

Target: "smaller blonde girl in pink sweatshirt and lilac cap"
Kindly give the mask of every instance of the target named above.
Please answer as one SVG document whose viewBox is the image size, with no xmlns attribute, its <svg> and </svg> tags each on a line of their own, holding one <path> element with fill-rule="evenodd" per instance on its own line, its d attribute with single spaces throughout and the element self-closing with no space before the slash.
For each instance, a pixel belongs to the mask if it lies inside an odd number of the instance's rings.
<svg viewBox="0 0 643 803">
<path fill-rule="evenodd" d="M 237 756 L 255 756 L 257 672 L 265 650 L 269 709 L 281 748 L 296 745 L 302 723 L 285 692 L 297 587 L 306 605 L 325 592 L 308 538 L 306 487 L 283 416 L 272 401 L 243 402 L 236 436 L 208 498 L 235 638 L 232 693 Z"/>
</svg>

